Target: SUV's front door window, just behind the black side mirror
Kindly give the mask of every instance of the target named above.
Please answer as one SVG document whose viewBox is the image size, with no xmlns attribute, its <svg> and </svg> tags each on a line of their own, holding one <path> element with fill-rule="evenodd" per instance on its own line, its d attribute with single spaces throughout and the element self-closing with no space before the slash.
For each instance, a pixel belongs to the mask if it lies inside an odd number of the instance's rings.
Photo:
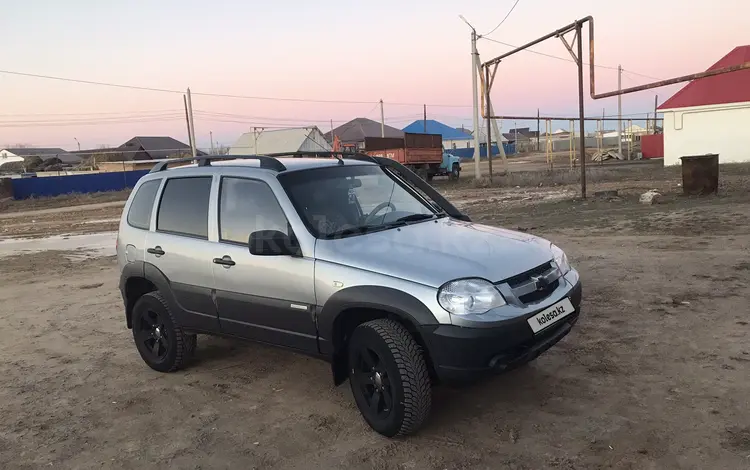
<svg viewBox="0 0 750 470">
<path fill-rule="evenodd" d="M 259 230 L 290 235 L 289 223 L 276 195 L 266 183 L 225 177 L 221 179 L 219 234 L 221 241 L 247 243 Z"/>
</svg>

